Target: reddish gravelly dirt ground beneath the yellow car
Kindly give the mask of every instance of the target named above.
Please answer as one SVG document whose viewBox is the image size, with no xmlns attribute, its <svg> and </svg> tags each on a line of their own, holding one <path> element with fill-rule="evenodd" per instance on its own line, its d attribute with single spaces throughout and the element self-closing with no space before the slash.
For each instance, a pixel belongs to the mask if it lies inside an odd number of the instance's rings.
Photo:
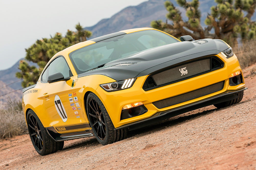
<svg viewBox="0 0 256 170">
<path fill-rule="evenodd" d="M 244 69 L 243 100 L 204 107 L 102 146 L 95 137 L 65 141 L 40 156 L 29 135 L 0 140 L 0 169 L 256 169 L 256 65 Z"/>
</svg>

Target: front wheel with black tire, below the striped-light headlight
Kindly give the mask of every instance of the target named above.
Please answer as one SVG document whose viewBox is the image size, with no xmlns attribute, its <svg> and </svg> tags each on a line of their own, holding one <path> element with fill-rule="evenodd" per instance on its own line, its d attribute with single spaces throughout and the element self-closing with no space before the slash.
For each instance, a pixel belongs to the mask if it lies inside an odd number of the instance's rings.
<svg viewBox="0 0 256 170">
<path fill-rule="evenodd" d="M 93 135 L 102 145 L 107 145 L 127 137 L 127 129 L 114 129 L 114 125 L 106 111 L 105 106 L 94 93 L 87 97 L 87 117 L 92 128 Z"/>
</svg>

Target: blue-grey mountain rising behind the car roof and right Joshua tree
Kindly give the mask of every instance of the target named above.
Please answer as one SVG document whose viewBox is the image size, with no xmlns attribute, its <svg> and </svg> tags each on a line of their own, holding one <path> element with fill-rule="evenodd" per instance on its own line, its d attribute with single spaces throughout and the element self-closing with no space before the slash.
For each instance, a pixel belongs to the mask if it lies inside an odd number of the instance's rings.
<svg viewBox="0 0 256 170">
<path fill-rule="evenodd" d="M 102 19 L 92 27 L 84 29 L 92 31 L 92 37 L 99 37 L 105 34 L 118 32 L 125 29 L 150 27 L 152 20 L 161 19 L 166 21 L 167 10 L 164 7 L 165 0 L 149 0 L 137 6 L 129 6 L 113 15 L 111 18 Z M 177 5 L 175 0 L 171 2 L 182 12 L 186 20 L 186 11 Z M 210 13 L 210 7 L 216 5 L 213 0 L 200 0 L 201 24 L 204 26 L 204 20 L 207 13 Z M 168 21 L 170 22 L 170 21 Z"/>
</svg>

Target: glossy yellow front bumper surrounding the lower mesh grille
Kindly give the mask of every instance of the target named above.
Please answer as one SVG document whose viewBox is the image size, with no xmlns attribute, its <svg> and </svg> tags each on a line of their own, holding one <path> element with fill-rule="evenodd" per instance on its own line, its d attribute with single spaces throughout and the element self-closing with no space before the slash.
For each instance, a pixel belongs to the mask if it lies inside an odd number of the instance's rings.
<svg viewBox="0 0 256 170">
<path fill-rule="evenodd" d="M 144 91 L 142 89 L 143 84 L 148 76 L 142 76 L 142 77 L 137 77 L 135 83 L 130 89 L 114 91 L 114 92 L 106 92 L 101 87 L 98 87 L 95 91 L 95 94 L 100 98 L 100 100 L 104 104 L 106 110 L 109 113 L 109 116 L 112 120 L 114 127 L 123 128 L 123 127 L 133 125 L 134 123 L 138 125 L 138 123 L 144 122 L 144 120 L 146 121 L 148 119 L 155 118 L 156 115 L 158 115 L 159 113 L 163 113 L 163 112 L 169 113 L 169 111 L 171 110 L 182 108 L 183 106 L 197 103 L 199 101 L 204 101 L 214 96 L 218 96 L 221 94 L 229 94 L 230 91 L 237 92 L 238 90 L 241 90 L 241 89 L 244 90 L 245 89 L 244 83 L 241 83 L 237 86 L 229 86 L 229 75 L 233 72 L 241 71 L 241 67 L 239 65 L 236 55 L 228 59 L 222 56 L 221 54 L 218 54 L 215 56 L 217 56 L 219 59 L 223 61 L 224 67 L 218 70 L 208 72 L 203 75 L 199 75 L 190 79 L 186 79 L 183 81 L 179 81 L 173 84 L 169 84 L 169 85 L 148 90 L 148 91 Z M 157 108 L 153 104 L 153 102 L 161 101 L 163 99 L 167 99 L 173 96 L 178 96 L 180 94 L 191 92 L 196 89 L 204 88 L 211 84 L 215 84 L 221 81 L 224 81 L 224 86 L 220 91 L 217 91 L 205 96 L 201 96 L 193 100 L 189 100 L 189 101 L 178 103 L 172 106 L 164 107 L 164 108 Z M 120 120 L 122 107 L 127 104 L 131 104 L 135 102 L 142 102 L 148 111 L 139 116 Z M 198 105 L 198 106 L 201 106 L 201 105 Z M 204 107 L 204 106 L 202 105 L 201 107 Z M 180 113 L 180 112 L 181 111 L 177 113 Z M 162 116 L 163 114 L 159 114 L 159 116 L 160 115 Z M 173 115 L 173 114 L 166 113 L 164 115 Z"/>
</svg>

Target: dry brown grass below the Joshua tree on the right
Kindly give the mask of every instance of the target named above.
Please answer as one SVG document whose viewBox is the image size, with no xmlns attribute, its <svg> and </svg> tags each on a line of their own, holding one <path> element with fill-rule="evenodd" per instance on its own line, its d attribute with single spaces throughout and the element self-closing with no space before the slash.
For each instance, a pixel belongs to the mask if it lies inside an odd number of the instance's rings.
<svg viewBox="0 0 256 170">
<path fill-rule="evenodd" d="M 238 46 L 239 45 L 239 46 Z M 242 68 L 256 63 L 256 41 L 247 41 L 232 46 Z"/>
</svg>

